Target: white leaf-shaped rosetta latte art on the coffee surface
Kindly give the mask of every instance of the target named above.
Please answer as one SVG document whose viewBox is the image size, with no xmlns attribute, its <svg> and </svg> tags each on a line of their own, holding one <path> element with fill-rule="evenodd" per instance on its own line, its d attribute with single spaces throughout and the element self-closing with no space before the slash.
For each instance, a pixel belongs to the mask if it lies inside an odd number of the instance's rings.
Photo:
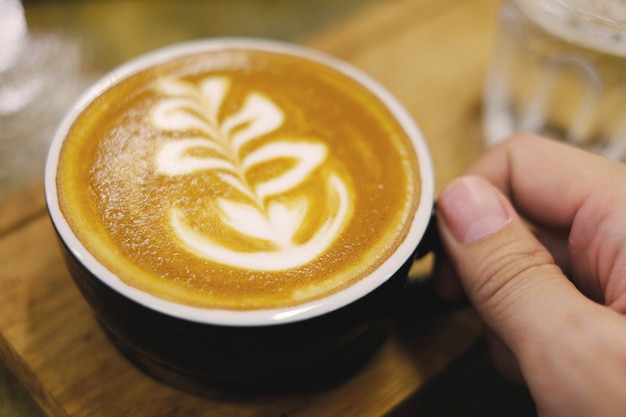
<svg viewBox="0 0 626 417">
<path fill-rule="evenodd" d="M 309 214 L 312 197 L 276 197 L 319 171 L 328 157 L 328 146 L 308 138 L 278 137 L 244 152 L 245 145 L 276 131 L 285 116 L 274 102 L 254 91 L 235 112 L 224 116 L 220 111 L 229 88 L 229 79 L 218 76 L 197 85 L 180 79 L 159 83 L 162 99 L 152 107 L 151 122 L 160 131 L 176 135 L 157 151 L 156 170 L 173 178 L 210 171 L 244 196 L 217 198 L 213 209 L 222 226 L 247 239 L 269 242 L 272 249 L 250 252 L 228 247 L 195 229 L 181 207 L 168 210 L 169 224 L 187 251 L 213 262 L 259 271 L 302 266 L 327 251 L 346 227 L 352 213 L 348 186 L 337 173 L 324 177 L 330 215 L 306 242 L 297 242 L 294 236 Z M 288 169 L 251 185 L 248 173 L 252 168 L 286 159 Z"/>
</svg>

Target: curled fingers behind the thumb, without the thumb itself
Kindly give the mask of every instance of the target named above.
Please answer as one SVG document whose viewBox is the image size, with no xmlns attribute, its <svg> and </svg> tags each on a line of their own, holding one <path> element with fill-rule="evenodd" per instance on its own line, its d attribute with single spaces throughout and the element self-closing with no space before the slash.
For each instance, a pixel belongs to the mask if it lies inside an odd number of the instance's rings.
<svg viewBox="0 0 626 417">
<path fill-rule="evenodd" d="M 489 150 L 469 173 L 495 185 L 533 225 L 566 236 L 553 252 L 557 263 L 589 298 L 625 311 L 626 165 L 517 135 Z"/>
</svg>

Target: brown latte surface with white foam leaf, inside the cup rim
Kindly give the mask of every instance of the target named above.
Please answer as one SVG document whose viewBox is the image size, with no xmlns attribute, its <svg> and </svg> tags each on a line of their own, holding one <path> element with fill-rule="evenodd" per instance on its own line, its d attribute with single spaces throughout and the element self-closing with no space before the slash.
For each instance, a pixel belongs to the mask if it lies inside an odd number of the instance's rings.
<svg viewBox="0 0 626 417">
<path fill-rule="evenodd" d="M 367 276 L 406 237 L 421 184 L 411 140 L 361 84 L 227 48 L 100 93 L 65 138 L 57 187 L 75 235 L 122 281 L 249 310 Z"/>
</svg>

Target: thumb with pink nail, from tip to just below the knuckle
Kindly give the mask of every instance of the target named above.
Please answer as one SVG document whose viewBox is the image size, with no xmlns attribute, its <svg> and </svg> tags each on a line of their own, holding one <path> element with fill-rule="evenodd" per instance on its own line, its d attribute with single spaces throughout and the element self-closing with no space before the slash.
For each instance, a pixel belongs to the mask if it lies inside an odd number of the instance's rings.
<svg viewBox="0 0 626 417">
<path fill-rule="evenodd" d="M 437 211 L 442 242 L 467 296 L 514 353 L 538 330 L 536 323 L 554 317 L 555 303 L 562 308 L 572 296 L 579 299 L 548 250 L 487 181 L 452 182 Z"/>
</svg>

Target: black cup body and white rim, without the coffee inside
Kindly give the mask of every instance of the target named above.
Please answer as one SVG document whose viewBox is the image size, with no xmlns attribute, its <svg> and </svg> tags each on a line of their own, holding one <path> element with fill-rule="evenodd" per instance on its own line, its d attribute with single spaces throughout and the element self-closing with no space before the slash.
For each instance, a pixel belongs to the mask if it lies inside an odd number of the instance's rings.
<svg viewBox="0 0 626 417">
<path fill-rule="evenodd" d="M 85 248 L 61 211 L 58 158 L 76 118 L 107 87 L 171 57 L 211 48 L 243 47 L 306 57 L 357 80 L 377 96 L 407 133 L 421 180 L 419 204 L 404 240 L 374 272 L 345 289 L 292 307 L 210 309 L 163 300 L 132 287 Z M 416 255 L 433 249 L 434 179 L 425 141 L 410 115 L 383 87 L 335 58 L 273 41 L 220 39 L 166 48 L 102 79 L 71 109 L 57 131 L 46 166 L 48 210 L 72 279 L 115 345 L 135 364 L 170 384 L 190 381 L 249 386 L 280 382 L 337 361 L 355 360 L 368 329 L 407 283 Z M 436 239 L 435 239 L 436 240 Z M 417 302 L 417 301 L 416 301 Z M 334 366 L 334 365 L 333 365 Z"/>
</svg>

